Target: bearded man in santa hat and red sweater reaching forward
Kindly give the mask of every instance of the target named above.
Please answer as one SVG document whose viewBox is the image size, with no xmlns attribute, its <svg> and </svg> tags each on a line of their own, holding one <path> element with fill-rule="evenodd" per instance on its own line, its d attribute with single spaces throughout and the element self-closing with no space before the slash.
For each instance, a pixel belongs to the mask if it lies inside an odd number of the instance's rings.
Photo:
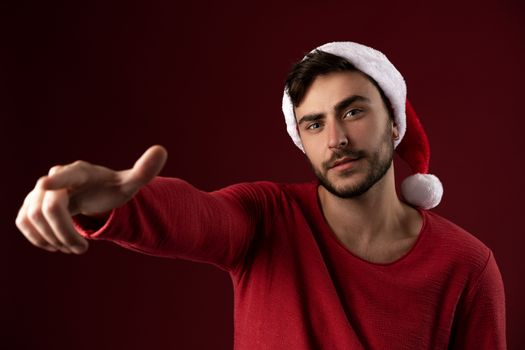
<svg viewBox="0 0 525 350">
<path fill-rule="evenodd" d="M 106 239 L 228 271 L 236 349 L 505 349 L 494 255 L 428 210 L 441 183 L 388 59 L 351 42 L 319 47 L 292 69 L 283 112 L 319 181 L 205 193 L 156 176 L 167 154 L 154 146 L 122 172 L 53 167 L 17 225 L 49 251 Z M 394 149 L 417 172 L 403 199 Z"/>
</svg>

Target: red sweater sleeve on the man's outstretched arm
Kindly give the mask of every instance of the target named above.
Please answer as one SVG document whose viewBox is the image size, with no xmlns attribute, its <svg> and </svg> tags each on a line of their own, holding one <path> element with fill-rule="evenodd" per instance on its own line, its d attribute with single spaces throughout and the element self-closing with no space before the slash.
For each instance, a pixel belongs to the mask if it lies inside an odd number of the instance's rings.
<svg viewBox="0 0 525 350">
<path fill-rule="evenodd" d="M 230 271 L 264 232 L 275 184 L 236 184 L 200 191 L 176 178 L 157 177 L 102 227 L 75 217 L 79 233 L 141 253 L 214 264 Z"/>
</svg>

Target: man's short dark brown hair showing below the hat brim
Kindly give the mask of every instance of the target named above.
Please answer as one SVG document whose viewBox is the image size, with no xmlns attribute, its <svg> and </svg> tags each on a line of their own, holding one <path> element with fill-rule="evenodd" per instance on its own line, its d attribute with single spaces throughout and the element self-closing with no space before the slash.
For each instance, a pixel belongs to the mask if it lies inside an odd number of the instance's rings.
<svg viewBox="0 0 525 350">
<path fill-rule="evenodd" d="M 390 101 L 385 96 L 383 89 L 379 87 L 379 84 L 371 76 L 357 69 L 346 59 L 320 50 L 315 50 L 306 55 L 304 60 L 294 64 L 292 70 L 288 74 L 285 87 L 288 89 L 288 94 L 290 95 L 292 104 L 294 107 L 301 104 L 306 92 L 318 76 L 346 71 L 359 72 L 374 84 L 381 95 L 381 99 L 385 104 L 388 115 L 393 120 L 394 113 Z"/>
</svg>

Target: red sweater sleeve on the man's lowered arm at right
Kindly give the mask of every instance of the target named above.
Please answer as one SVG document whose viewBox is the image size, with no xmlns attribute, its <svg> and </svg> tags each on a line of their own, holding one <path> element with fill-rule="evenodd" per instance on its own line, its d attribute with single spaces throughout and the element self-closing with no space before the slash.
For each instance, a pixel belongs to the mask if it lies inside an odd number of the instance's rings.
<svg viewBox="0 0 525 350">
<path fill-rule="evenodd" d="M 464 300 L 458 305 L 450 349 L 506 349 L 505 292 L 492 251 Z"/>
</svg>

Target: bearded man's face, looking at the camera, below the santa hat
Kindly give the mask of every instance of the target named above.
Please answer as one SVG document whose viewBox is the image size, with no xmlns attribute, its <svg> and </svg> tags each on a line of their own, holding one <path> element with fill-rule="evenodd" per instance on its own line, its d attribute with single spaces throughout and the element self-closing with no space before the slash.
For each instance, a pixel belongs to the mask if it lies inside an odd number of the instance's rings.
<svg viewBox="0 0 525 350">
<path fill-rule="evenodd" d="M 362 73 L 317 77 L 295 116 L 306 156 L 332 194 L 359 196 L 390 169 L 397 127 Z"/>
</svg>

